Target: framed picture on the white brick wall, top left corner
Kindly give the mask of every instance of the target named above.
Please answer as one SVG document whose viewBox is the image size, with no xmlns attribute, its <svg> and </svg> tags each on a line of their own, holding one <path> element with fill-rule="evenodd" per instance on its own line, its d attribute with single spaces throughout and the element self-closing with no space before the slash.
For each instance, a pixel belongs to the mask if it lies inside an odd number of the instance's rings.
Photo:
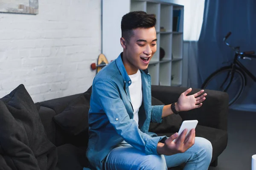
<svg viewBox="0 0 256 170">
<path fill-rule="evenodd" d="M 0 0 L 0 12 L 38 14 L 38 0 Z"/>
</svg>

